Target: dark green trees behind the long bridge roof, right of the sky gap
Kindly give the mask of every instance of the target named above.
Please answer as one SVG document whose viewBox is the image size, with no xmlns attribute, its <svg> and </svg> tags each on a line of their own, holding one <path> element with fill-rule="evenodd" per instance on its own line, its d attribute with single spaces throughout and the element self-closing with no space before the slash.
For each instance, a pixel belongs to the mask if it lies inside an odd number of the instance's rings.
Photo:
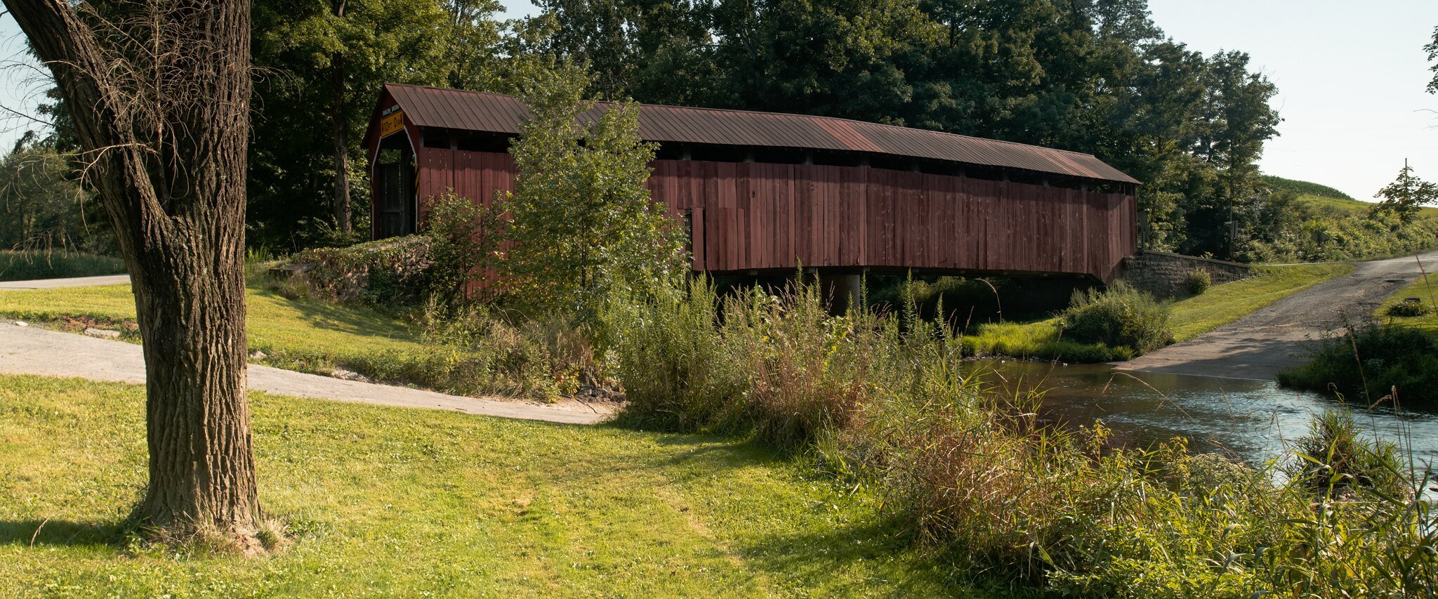
<svg viewBox="0 0 1438 599">
<path fill-rule="evenodd" d="M 1091 152 L 1145 182 L 1155 249 L 1240 253 L 1267 210 L 1257 161 L 1277 135 L 1273 83 L 1241 52 L 1168 39 L 1146 0 L 541 6 L 544 47 L 590 63 L 597 93 Z"/>
</svg>

